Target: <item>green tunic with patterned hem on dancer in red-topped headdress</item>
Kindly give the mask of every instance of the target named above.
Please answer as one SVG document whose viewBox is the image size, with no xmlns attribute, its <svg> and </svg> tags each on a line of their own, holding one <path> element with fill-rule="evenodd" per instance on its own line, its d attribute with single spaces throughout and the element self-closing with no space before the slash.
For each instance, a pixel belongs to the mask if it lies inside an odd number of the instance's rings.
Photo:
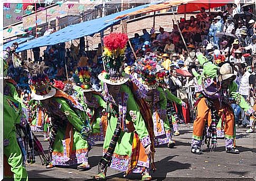
<svg viewBox="0 0 256 181">
<path fill-rule="evenodd" d="M 132 122 L 136 133 L 141 141 L 141 144 L 146 147 L 151 144 L 150 137 L 144 122 L 143 117 L 140 114 L 138 104 L 132 94 L 130 88 L 127 85 L 121 85 L 120 93 L 125 93 L 128 97 L 126 102 L 127 114 L 125 117 L 126 124 Z M 119 95 L 120 96 L 120 95 Z M 123 114 L 122 112 L 121 114 Z M 120 113 L 119 113 L 120 114 Z M 103 153 L 106 153 L 111 138 L 114 135 L 118 118 L 113 113 L 108 113 L 108 127 L 106 132 L 105 141 L 103 144 Z M 112 156 L 112 162 L 110 167 L 126 171 L 129 166 L 129 161 L 132 155 L 132 141 L 134 139 L 134 132 L 127 133 L 121 130 L 115 152 Z M 147 162 L 139 162 L 137 166 L 149 168 L 149 159 Z M 140 172 L 140 170 L 137 170 Z M 135 170 L 134 170 L 135 172 Z"/>
</svg>

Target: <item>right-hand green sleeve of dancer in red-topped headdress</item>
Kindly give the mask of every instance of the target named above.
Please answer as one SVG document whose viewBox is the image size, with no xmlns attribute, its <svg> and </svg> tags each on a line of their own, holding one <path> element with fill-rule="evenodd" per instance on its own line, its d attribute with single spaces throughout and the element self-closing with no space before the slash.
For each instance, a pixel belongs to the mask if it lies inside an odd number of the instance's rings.
<svg viewBox="0 0 256 181">
<path fill-rule="evenodd" d="M 151 142 L 149 139 L 146 124 L 142 115 L 140 114 L 139 106 L 136 103 L 134 95 L 131 93 L 131 90 L 128 86 L 122 85 L 121 92 L 126 92 L 128 94 L 126 119 L 134 123 L 136 133 L 138 134 L 141 143 L 145 143 L 143 144 L 143 146 L 146 147 Z M 144 140 L 147 140 L 147 142 L 145 142 Z"/>
</svg>

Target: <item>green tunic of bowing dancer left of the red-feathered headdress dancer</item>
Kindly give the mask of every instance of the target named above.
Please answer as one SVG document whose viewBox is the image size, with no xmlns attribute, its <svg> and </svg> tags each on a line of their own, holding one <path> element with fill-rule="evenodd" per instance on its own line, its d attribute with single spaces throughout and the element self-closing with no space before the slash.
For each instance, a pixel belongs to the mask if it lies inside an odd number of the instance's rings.
<svg viewBox="0 0 256 181">
<path fill-rule="evenodd" d="M 56 118 L 61 123 L 58 125 L 54 140 L 52 164 L 75 165 L 88 162 L 88 142 L 80 134 L 84 128 L 85 120 L 88 120 L 86 114 L 79 109 L 71 109 L 64 98 L 53 97 L 53 99 L 60 106 L 58 107 L 61 112 L 59 114 L 63 114 L 67 119 Z M 52 113 L 51 116 L 52 118 L 56 117 Z"/>
</svg>

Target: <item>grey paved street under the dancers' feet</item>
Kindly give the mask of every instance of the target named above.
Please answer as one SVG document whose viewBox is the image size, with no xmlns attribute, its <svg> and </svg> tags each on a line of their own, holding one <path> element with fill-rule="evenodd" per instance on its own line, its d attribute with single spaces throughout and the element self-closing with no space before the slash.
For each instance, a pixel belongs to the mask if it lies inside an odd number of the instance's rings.
<svg viewBox="0 0 256 181">
<path fill-rule="evenodd" d="M 156 148 L 155 164 L 157 170 L 152 174 L 153 179 L 163 180 L 216 180 L 213 178 L 233 177 L 232 180 L 253 180 L 245 178 L 256 178 L 255 162 L 255 136 L 246 134 L 245 128 L 237 129 L 236 144 L 240 149 L 239 155 L 227 154 L 225 152 L 224 139 L 218 139 L 217 151 L 210 153 L 204 152 L 203 155 L 193 155 L 190 152 L 190 142 L 192 135 L 192 125 L 182 125 L 181 135 L 175 137 L 176 147 L 158 147 Z M 42 140 L 42 135 L 36 134 Z M 42 143 L 45 148 L 48 142 Z M 40 159 L 36 157 L 36 163 L 27 165 L 30 178 L 77 178 L 76 180 L 92 179 L 97 173 L 98 162 L 102 155 L 102 143 L 92 147 L 89 153 L 89 162 L 91 169 L 81 171 L 72 168 L 52 168 L 46 169 L 41 165 Z M 122 176 L 121 172 L 108 168 L 107 176 L 110 180 L 140 179 L 140 175 L 132 174 L 127 178 Z M 177 178 L 181 177 L 181 178 Z M 188 177 L 193 177 L 188 178 Z M 208 179 L 202 178 L 207 177 Z M 201 178 L 201 179 L 200 179 Z M 211 179 L 212 178 L 212 179 Z M 234 179 L 236 178 L 236 179 Z M 239 179 L 240 178 L 240 179 Z M 40 179 L 41 180 L 41 179 Z M 219 179 L 218 179 L 219 180 Z"/>
</svg>

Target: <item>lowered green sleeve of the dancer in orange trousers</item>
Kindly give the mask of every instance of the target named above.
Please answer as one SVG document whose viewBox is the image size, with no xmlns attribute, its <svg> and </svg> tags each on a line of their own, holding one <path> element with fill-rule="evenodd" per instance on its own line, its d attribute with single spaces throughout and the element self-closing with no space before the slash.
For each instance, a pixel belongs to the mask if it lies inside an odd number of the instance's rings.
<svg viewBox="0 0 256 181">
<path fill-rule="evenodd" d="M 230 96 L 235 100 L 236 103 L 246 112 L 250 109 L 250 105 L 246 102 L 246 100 L 237 92 L 238 85 L 235 82 L 232 82 L 229 86 Z"/>
</svg>

